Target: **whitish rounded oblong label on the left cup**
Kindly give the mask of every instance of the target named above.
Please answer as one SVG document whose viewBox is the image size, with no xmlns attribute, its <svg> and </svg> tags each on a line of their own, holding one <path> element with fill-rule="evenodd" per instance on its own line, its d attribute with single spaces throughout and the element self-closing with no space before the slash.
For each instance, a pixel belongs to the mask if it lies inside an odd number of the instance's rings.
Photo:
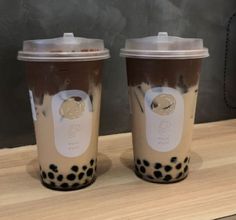
<svg viewBox="0 0 236 220">
<path fill-rule="evenodd" d="M 57 151 L 77 157 L 89 147 L 92 135 L 92 103 L 81 90 L 65 90 L 52 98 L 54 138 Z"/>
</svg>

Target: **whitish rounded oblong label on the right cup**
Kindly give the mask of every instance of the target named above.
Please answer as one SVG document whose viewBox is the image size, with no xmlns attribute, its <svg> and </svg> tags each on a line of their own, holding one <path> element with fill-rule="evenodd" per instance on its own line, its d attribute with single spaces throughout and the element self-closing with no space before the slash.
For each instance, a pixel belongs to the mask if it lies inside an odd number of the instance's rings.
<svg viewBox="0 0 236 220">
<path fill-rule="evenodd" d="M 153 150 L 168 152 L 181 141 L 184 100 L 170 87 L 156 87 L 145 93 L 146 138 Z"/>
</svg>

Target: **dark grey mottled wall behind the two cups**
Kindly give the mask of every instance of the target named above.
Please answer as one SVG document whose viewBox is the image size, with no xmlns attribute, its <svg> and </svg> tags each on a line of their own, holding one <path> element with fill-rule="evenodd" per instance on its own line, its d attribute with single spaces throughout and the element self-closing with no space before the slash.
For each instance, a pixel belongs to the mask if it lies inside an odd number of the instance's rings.
<svg viewBox="0 0 236 220">
<path fill-rule="evenodd" d="M 101 38 L 111 50 L 103 77 L 101 134 L 130 131 L 125 62 L 126 38 L 156 35 L 200 37 L 211 57 L 204 61 L 196 122 L 236 117 L 223 99 L 226 26 L 235 0 L 9 0 L 0 1 L 0 147 L 32 144 L 34 132 L 22 64 L 22 41 L 63 32 Z M 231 38 L 236 39 L 236 18 Z M 236 105 L 236 41 L 230 44 L 227 96 Z M 234 59 L 233 59 L 234 57 Z"/>
</svg>

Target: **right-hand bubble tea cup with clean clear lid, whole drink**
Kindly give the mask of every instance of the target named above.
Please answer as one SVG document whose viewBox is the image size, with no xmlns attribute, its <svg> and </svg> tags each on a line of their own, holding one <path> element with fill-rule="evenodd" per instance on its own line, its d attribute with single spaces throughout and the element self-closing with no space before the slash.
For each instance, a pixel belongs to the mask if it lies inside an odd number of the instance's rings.
<svg viewBox="0 0 236 220">
<path fill-rule="evenodd" d="M 201 39 L 158 36 L 126 40 L 135 173 L 170 183 L 188 175 L 202 58 Z"/>
</svg>

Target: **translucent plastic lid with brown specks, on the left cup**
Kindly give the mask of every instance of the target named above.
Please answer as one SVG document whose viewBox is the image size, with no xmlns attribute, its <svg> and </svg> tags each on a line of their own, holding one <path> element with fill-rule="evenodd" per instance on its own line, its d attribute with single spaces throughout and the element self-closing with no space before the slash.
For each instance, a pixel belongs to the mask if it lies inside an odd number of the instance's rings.
<svg viewBox="0 0 236 220">
<path fill-rule="evenodd" d="M 23 61 L 90 61 L 109 58 L 109 50 L 100 39 L 74 37 L 65 33 L 63 37 L 42 40 L 28 40 L 18 59 Z"/>
</svg>

